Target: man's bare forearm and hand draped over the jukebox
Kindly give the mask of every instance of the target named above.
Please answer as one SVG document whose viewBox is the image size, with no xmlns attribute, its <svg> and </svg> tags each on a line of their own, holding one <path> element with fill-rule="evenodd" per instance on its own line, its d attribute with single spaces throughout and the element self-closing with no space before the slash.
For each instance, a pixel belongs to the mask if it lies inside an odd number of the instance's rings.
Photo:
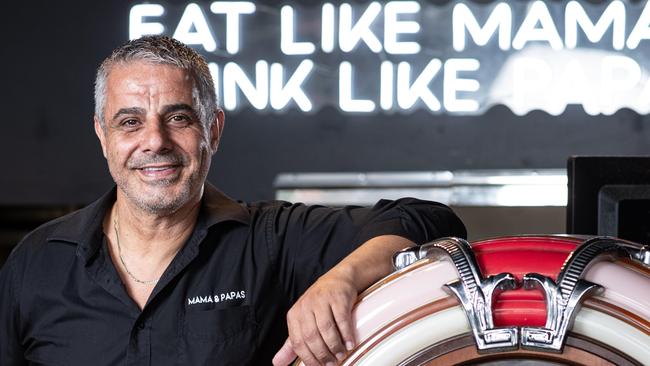
<svg viewBox="0 0 650 366">
<path fill-rule="evenodd" d="M 358 293 L 390 273 L 393 253 L 412 245 L 399 236 L 375 237 L 321 276 L 287 313 L 289 338 L 273 365 L 289 365 L 296 356 L 307 366 L 341 361 L 355 346 L 352 307 Z"/>
</svg>

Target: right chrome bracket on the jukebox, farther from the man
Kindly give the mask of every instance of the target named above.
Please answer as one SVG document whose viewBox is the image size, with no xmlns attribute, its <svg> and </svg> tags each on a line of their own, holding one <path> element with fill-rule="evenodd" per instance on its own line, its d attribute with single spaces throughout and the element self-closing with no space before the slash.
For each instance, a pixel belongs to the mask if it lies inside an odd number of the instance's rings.
<svg viewBox="0 0 650 366">
<path fill-rule="evenodd" d="M 562 266 L 557 284 L 549 277 L 529 273 L 523 278 L 525 289 L 541 288 L 546 300 L 544 327 L 522 327 L 522 348 L 561 352 L 566 333 L 582 301 L 602 291 L 602 287 L 582 279 L 589 267 L 606 258 L 629 257 L 641 263 L 650 259 L 643 245 L 609 237 L 598 237 L 582 243 Z M 646 264 L 647 265 L 647 264 Z"/>
</svg>

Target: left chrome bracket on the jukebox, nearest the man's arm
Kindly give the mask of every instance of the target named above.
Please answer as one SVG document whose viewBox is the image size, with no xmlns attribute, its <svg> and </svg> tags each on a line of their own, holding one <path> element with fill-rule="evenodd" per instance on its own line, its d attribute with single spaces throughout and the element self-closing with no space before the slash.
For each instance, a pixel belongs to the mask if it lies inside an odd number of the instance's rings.
<svg viewBox="0 0 650 366">
<path fill-rule="evenodd" d="M 397 269 L 424 257 L 448 258 L 456 266 L 459 279 L 445 285 L 460 301 L 472 328 L 479 352 L 516 349 L 517 327 L 495 328 L 492 304 L 496 295 L 517 287 L 515 277 L 500 273 L 484 279 L 470 244 L 458 238 L 445 238 L 417 248 L 409 248 L 393 257 Z"/>
</svg>

